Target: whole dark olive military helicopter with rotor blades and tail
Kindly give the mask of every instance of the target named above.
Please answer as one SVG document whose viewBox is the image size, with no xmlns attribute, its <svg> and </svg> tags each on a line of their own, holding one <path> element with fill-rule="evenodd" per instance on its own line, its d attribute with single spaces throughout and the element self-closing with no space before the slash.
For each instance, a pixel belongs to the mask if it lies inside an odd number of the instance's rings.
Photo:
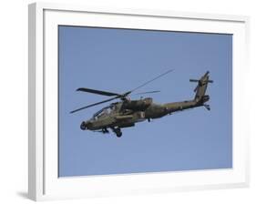
<svg viewBox="0 0 256 204">
<path fill-rule="evenodd" d="M 116 103 L 111 103 L 108 107 L 103 107 L 102 109 L 97 111 L 97 113 L 94 114 L 91 119 L 83 121 L 80 126 L 80 128 L 83 130 L 88 129 L 93 131 L 99 131 L 102 133 L 109 133 L 108 128 L 110 128 L 117 135 L 117 137 L 120 138 L 122 136 L 121 128 L 134 127 L 135 123 L 145 121 L 146 119 L 148 119 L 149 122 L 152 118 L 164 117 L 167 115 L 171 115 L 174 112 L 182 111 L 193 107 L 206 107 L 206 109 L 210 110 L 210 106 L 205 104 L 205 102 L 210 100 L 210 97 L 208 95 L 205 95 L 208 83 L 213 82 L 209 79 L 209 71 L 206 72 L 204 76 L 201 76 L 199 80 L 189 80 L 190 82 L 198 83 L 197 87 L 194 89 L 194 92 L 196 92 L 195 97 L 191 100 L 159 105 L 153 102 L 152 97 L 140 98 L 138 100 L 131 100 L 128 98 L 128 95 L 130 95 L 135 90 L 138 90 L 138 88 L 148 85 L 148 83 L 156 80 L 161 76 L 167 75 L 171 71 L 172 70 L 169 70 L 124 94 L 117 94 L 107 91 L 90 89 L 86 87 L 77 88 L 77 91 L 84 91 L 87 93 L 103 95 L 111 98 L 97 102 L 95 104 L 88 105 L 86 107 L 80 107 L 76 110 L 71 111 L 70 113 L 75 113 L 79 110 L 86 109 L 88 107 L 94 107 L 99 104 L 107 103 L 109 101 L 120 98 L 120 101 Z M 140 94 L 157 92 L 159 91 L 150 91 Z"/>
</svg>

